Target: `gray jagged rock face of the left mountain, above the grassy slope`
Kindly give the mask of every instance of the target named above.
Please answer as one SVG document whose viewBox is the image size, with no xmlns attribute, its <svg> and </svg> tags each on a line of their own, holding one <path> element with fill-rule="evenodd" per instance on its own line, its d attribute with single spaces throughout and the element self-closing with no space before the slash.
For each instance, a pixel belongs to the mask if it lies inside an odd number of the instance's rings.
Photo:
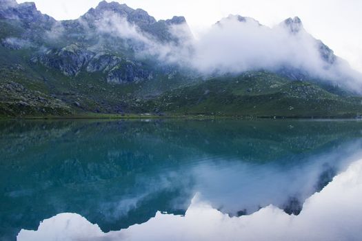
<svg viewBox="0 0 362 241">
<path fill-rule="evenodd" d="M 50 50 L 34 52 L 30 61 L 59 70 L 66 76 L 77 76 L 81 71 L 101 72 L 109 83 L 145 81 L 152 78 L 153 69 L 144 67 L 144 61 L 135 58 L 134 53 L 145 48 L 142 43 L 97 31 L 101 19 L 115 14 L 161 43 L 179 41 L 170 32 L 170 27 L 185 23 L 184 17 L 156 21 L 145 10 L 134 10 L 117 2 L 101 1 L 79 19 L 70 21 L 55 21 L 41 14 L 34 3 L 18 4 L 15 0 L 0 2 L 0 18 L 17 19 L 26 29 L 21 38 L 9 36 L 1 39 L 3 46 L 19 50 L 33 43 L 34 48 L 45 45 Z M 154 66 L 154 71 L 158 71 L 157 68 Z"/>
</svg>

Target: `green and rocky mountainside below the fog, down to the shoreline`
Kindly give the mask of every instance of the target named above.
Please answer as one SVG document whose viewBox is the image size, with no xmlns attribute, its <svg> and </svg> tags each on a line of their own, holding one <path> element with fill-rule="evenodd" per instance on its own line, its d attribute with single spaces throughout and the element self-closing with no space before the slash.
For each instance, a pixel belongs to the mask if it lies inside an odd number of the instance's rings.
<svg viewBox="0 0 362 241">
<path fill-rule="evenodd" d="M 134 43 L 87 35 L 72 21 L 63 24 L 68 34 L 55 41 L 43 37 L 50 26 L 28 28 L 19 20 L 0 19 L 0 117 L 362 114 L 361 96 L 326 82 L 292 81 L 263 71 L 203 79 L 156 59 L 137 59 L 128 46 Z"/>
</svg>

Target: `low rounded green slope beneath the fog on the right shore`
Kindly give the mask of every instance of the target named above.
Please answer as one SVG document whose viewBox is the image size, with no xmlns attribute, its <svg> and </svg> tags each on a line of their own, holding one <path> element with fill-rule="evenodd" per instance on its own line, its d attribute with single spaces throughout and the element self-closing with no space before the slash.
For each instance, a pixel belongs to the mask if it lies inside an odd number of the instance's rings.
<svg viewBox="0 0 362 241">
<path fill-rule="evenodd" d="M 161 112 L 208 116 L 355 117 L 362 97 L 332 94 L 269 72 L 246 72 L 166 92 L 149 105 Z"/>
</svg>

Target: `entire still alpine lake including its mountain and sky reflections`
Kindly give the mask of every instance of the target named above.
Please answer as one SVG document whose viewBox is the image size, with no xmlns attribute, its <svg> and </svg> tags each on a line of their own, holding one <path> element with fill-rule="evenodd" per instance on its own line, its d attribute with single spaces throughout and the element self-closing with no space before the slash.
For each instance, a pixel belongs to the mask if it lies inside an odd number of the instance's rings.
<svg viewBox="0 0 362 241">
<path fill-rule="evenodd" d="M 361 240 L 362 122 L 0 121 L 0 240 Z"/>
</svg>

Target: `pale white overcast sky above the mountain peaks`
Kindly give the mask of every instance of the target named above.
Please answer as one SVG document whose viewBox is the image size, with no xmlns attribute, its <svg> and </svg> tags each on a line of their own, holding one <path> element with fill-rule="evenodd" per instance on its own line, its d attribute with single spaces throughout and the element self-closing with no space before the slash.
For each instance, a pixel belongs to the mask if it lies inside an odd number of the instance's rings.
<svg viewBox="0 0 362 241">
<path fill-rule="evenodd" d="M 18 3 L 25 0 L 17 0 Z M 41 12 L 58 20 L 77 19 L 100 0 L 34 0 Z M 109 1 L 109 0 L 108 0 Z M 119 0 L 158 19 L 184 16 L 198 34 L 229 14 L 273 26 L 298 16 L 305 29 L 362 72 L 361 0 Z"/>
</svg>

